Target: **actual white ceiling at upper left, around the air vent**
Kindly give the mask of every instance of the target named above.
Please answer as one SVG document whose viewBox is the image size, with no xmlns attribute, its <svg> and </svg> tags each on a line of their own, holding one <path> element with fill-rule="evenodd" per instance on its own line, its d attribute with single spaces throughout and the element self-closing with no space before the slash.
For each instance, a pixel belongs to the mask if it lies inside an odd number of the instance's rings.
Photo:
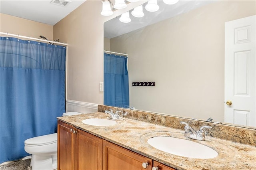
<svg viewBox="0 0 256 170">
<path fill-rule="evenodd" d="M 51 4 L 52 0 L 0 0 L 0 12 L 53 26 L 86 0 L 69 1 L 60 6 Z"/>
</svg>

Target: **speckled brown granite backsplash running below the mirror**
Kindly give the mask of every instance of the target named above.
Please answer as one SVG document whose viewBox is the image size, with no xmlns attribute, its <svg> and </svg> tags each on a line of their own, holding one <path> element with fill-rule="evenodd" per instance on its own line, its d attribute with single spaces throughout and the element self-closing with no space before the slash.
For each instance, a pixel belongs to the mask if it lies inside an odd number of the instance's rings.
<svg viewBox="0 0 256 170">
<path fill-rule="evenodd" d="M 155 125 L 162 125 L 171 128 L 177 128 L 180 130 L 184 129 L 184 125 L 180 124 L 180 121 L 186 122 L 190 125 L 190 127 L 198 130 L 199 127 L 202 126 L 210 126 L 212 127 L 210 130 L 206 129 L 206 135 L 231 140 L 233 142 L 239 142 L 242 144 L 248 144 L 251 146 L 256 146 L 256 128 L 244 128 L 244 127 L 236 127 L 232 125 L 222 125 L 217 123 L 210 123 L 206 121 L 196 121 L 192 119 L 186 119 L 181 117 L 174 117 L 170 115 L 160 115 L 156 113 L 149 113 L 143 111 L 136 111 L 130 109 L 121 109 L 117 107 L 110 107 L 105 105 L 98 105 L 98 111 L 104 113 L 105 110 L 111 108 L 115 111 L 123 111 L 128 112 L 126 118 L 134 119 L 138 121 L 144 121 L 148 123 L 153 123 Z"/>
</svg>

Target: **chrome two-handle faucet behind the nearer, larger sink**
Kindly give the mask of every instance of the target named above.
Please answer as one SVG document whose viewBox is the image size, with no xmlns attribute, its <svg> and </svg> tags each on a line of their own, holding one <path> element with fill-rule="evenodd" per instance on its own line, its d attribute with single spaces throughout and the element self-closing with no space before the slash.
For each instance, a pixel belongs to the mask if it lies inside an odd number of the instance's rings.
<svg viewBox="0 0 256 170">
<path fill-rule="evenodd" d="M 204 128 L 212 128 L 212 127 L 208 127 L 208 126 L 202 126 L 200 127 L 200 129 L 198 131 L 194 130 L 194 128 L 190 127 L 188 125 L 188 123 L 186 122 L 180 122 L 181 124 L 184 124 L 184 136 L 187 138 L 191 138 L 191 139 L 196 139 L 196 140 L 205 140 L 205 136 L 204 136 Z"/>
</svg>

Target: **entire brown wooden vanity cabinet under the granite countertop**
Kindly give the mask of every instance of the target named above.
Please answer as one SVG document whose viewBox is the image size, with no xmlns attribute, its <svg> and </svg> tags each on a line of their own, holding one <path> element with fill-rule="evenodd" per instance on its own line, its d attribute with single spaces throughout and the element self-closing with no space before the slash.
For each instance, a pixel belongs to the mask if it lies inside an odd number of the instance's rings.
<svg viewBox="0 0 256 170">
<path fill-rule="evenodd" d="M 175 170 L 58 121 L 58 170 L 153 170 L 154 167 Z"/>
</svg>

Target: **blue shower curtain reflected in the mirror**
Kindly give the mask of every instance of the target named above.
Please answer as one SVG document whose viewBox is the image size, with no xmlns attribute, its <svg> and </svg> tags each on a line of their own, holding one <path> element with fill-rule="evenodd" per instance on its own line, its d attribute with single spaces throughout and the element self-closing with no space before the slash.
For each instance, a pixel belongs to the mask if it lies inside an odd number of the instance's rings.
<svg viewBox="0 0 256 170">
<path fill-rule="evenodd" d="M 104 53 L 104 105 L 129 107 L 127 57 Z"/>
</svg>

